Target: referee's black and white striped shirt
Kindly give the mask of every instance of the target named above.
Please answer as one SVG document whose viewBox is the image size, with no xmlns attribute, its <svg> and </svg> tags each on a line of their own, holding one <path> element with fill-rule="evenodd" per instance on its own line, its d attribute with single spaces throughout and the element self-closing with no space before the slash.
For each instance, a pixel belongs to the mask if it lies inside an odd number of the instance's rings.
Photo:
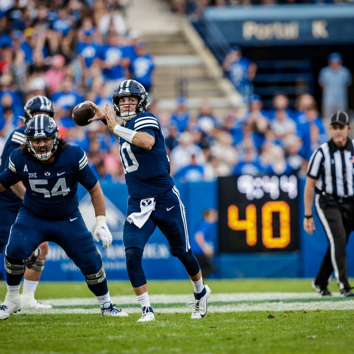
<svg viewBox="0 0 354 354">
<path fill-rule="evenodd" d="M 307 176 L 318 179 L 316 192 L 335 196 L 352 196 L 354 168 L 354 139 L 348 139 L 344 148 L 332 140 L 323 143 L 312 154 Z"/>
</svg>

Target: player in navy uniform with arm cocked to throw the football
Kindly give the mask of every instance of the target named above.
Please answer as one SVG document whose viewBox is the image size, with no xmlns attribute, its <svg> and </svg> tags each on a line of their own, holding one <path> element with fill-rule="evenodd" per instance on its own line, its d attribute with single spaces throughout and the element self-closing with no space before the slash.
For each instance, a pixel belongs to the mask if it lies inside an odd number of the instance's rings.
<svg viewBox="0 0 354 354">
<path fill-rule="evenodd" d="M 135 80 L 124 80 L 113 94 L 116 116 L 124 121 L 118 125 L 107 103 L 105 113 L 96 110 L 90 119 L 107 119 L 109 130 L 120 142 L 120 155 L 128 187 L 127 218 L 123 229 L 127 271 L 135 294 L 142 307 L 138 322 L 155 320 L 150 305 L 147 281 L 142 268 L 146 242 L 156 226 L 165 235 L 172 256 L 184 265 L 194 287 L 194 307 L 191 318 L 201 319 L 207 311 L 211 290 L 204 286 L 199 263 L 190 250 L 184 205 L 170 175 L 170 161 L 165 138 L 155 116 L 146 112 L 147 92 Z"/>
</svg>

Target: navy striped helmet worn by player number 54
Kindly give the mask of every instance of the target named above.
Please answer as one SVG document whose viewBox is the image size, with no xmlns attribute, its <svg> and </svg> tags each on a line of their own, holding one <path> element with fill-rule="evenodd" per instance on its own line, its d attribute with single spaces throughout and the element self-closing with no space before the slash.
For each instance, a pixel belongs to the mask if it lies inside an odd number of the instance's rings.
<svg viewBox="0 0 354 354">
<path fill-rule="evenodd" d="M 36 114 L 30 119 L 24 135 L 29 153 L 38 160 L 48 160 L 58 148 L 58 127 L 55 120 L 47 114 Z M 47 145 L 33 146 L 34 140 L 45 138 L 53 138 L 53 141 Z"/>
</svg>

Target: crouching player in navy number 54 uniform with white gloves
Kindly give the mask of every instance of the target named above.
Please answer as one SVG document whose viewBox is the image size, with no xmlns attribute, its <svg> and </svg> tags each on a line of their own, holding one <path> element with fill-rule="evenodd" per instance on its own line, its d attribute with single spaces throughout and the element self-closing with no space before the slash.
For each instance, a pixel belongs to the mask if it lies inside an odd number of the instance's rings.
<svg viewBox="0 0 354 354">
<path fill-rule="evenodd" d="M 90 193 L 96 213 L 96 241 L 104 248 L 112 243 L 105 221 L 104 195 L 78 146 L 58 138 L 58 127 L 46 114 L 35 115 L 25 129 L 26 145 L 14 150 L 9 168 L 0 174 L 0 192 L 22 181 L 26 187 L 6 248 L 7 294 L 0 306 L 0 319 L 21 310 L 19 288 L 25 262 L 39 244 L 53 241 L 84 274 L 96 295 L 102 316 L 128 316 L 112 304 L 102 258 L 78 209 L 78 182 Z"/>
</svg>

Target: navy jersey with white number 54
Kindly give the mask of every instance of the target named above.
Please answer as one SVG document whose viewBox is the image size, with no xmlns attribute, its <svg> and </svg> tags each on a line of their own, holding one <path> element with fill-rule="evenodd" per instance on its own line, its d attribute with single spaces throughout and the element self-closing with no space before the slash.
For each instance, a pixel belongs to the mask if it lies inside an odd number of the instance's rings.
<svg viewBox="0 0 354 354">
<path fill-rule="evenodd" d="M 22 149 L 11 153 L 0 183 L 8 188 L 22 181 L 26 187 L 23 206 L 43 219 L 62 220 L 72 215 L 79 206 L 78 182 L 88 190 L 97 183 L 84 150 L 67 145 L 63 152 L 56 153 L 53 162 L 43 164 L 21 153 Z"/>
</svg>

